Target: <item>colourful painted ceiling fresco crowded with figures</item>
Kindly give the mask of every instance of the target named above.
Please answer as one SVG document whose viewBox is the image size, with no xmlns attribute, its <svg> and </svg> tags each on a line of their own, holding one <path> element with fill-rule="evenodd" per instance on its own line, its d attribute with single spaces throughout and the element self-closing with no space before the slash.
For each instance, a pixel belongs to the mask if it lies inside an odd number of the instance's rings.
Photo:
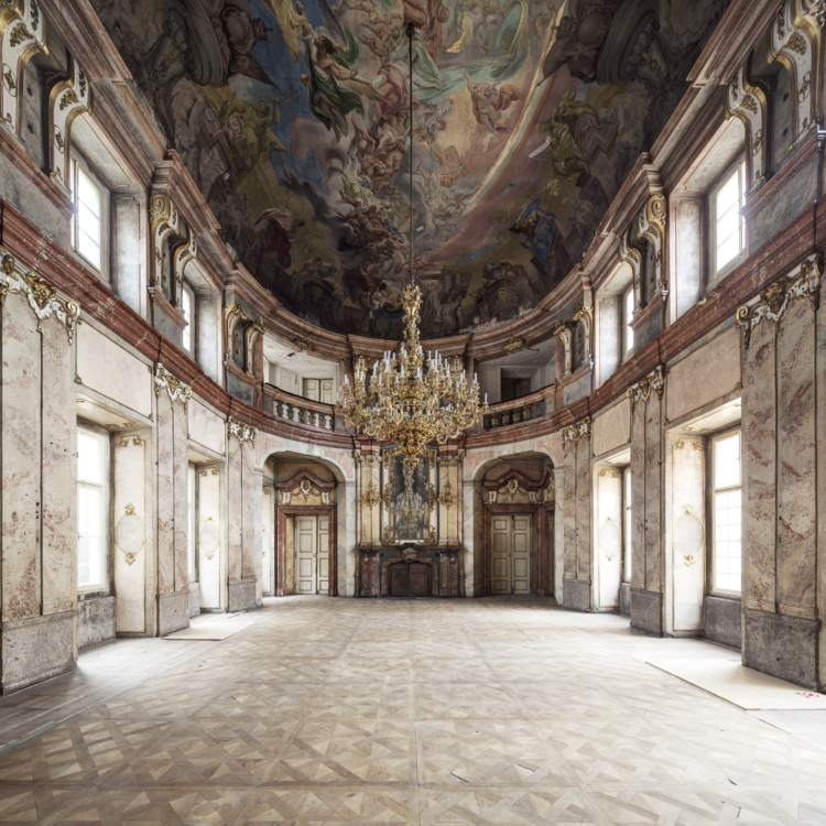
<svg viewBox="0 0 826 826">
<path fill-rule="evenodd" d="M 402 334 L 411 220 L 423 337 L 546 295 L 726 4 L 93 0 L 237 258 L 297 315 L 382 338 Z"/>
</svg>

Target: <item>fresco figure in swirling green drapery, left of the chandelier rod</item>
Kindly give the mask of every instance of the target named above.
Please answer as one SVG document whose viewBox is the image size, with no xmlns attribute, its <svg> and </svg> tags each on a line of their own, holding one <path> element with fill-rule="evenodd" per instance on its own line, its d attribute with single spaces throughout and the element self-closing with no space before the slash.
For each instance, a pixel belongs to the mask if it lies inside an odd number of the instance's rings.
<svg viewBox="0 0 826 826">
<path fill-rule="evenodd" d="M 296 10 L 303 15 L 301 3 Z M 334 43 L 327 35 L 317 34 L 304 18 L 301 28 L 301 48 L 309 74 L 300 80 L 307 88 L 309 108 L 327 129 L 332 129 L 336 141 L 349 133 L 347 116 L 358 112 L 363 117 L 362 95 L 379 100 L 376 88 L 361 77 L 352 64 L 358 58 L 358 43 L 352 32 L 346 30 L 347 47 Z"/>
</svg>

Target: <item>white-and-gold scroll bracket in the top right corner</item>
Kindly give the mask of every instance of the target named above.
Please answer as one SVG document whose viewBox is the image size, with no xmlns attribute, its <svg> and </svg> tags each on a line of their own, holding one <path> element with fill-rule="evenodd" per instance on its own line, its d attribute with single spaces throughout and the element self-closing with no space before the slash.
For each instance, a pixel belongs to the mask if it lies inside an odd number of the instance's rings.
<svg viewBox="0 0 826 826">
<path fill-rule="evenodd" d="M 823 19 L 826 4 L 811 6 L 819 6 Z M 789 96 L 795 124 L 792 146 L 817 126 L 819 117 L 822 25 L 808 11 L 796 14 L 793 0 L 784 0 L 767 34 L 767 57 L 770 63 L 780 61 L 785 66 L 792 86 Z"/>
</svg>

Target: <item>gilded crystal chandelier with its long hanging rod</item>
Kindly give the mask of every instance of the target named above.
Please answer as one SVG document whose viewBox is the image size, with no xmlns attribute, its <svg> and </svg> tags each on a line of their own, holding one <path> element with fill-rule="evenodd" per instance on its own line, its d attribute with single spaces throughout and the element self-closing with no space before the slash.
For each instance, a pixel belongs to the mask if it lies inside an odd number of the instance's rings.
<svg viewBox="0 0 826 826">
<path fill-rule="evenodd" d="M 409 269 L 410 283 L 404 287 L 404 341 L 399 358 L 389 350 L 381 360 L 373 363 L 369 384 L 363 363 L 359 363 L 350 387 L 345 376 L 340 410 L 356 427 L 363 428 L 368 436 L 389 439 L 399 445 L 405 469 L 419 463 L 425 447 L 434 439 L 444 444 L 456 438 L 463 431 L 472 427 L 477 415 L 488 409 L 479 401 L 479 382 L 474 376 L 468 384 L 465 370 L 459 365 L 453 368 L 447 359 L 427 354 L 425 366 L 424 350 L 419 341 L 419 308 L 422 305 L 422 291 L 413 283 L 413 24 L 407 26 L 410 40 L 410 240 Z M 405 477 L 407 475 L 405 474 Z M 405 482 L 410 482 L 405 478 Z M 410 490 L 405 485 L 405 492 Z M 411 492 L 412 494 L 412 492 Z M 409 503 L 414 507 L 413 502 Z"/>
</svg>

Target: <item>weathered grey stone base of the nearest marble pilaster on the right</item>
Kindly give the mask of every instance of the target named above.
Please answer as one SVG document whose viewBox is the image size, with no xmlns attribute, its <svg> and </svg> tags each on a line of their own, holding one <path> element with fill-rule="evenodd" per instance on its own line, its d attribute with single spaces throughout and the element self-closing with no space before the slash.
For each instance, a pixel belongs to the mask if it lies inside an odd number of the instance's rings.
<svg viewBox="0 0 826 826">
<path fill-rule="evenodd" d="M 822 691 L 817 673 L 820 620 L 743 608 L 743 664 L 812 691 Z"/>
</svg>

